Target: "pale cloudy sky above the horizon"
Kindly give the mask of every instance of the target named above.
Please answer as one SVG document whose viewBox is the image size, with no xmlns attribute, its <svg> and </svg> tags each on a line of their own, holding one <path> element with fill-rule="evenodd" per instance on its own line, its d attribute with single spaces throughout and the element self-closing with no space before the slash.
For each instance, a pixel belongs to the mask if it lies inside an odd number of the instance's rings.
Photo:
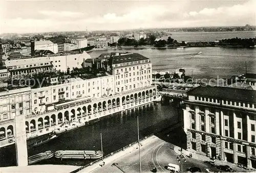
<svg viewBox="0 0 256 173">
<path fill-rule="evenodd" d="M 256 0 L 0 0 L 0 34 L 255 26 L 255 9 Z"/>
</svg>

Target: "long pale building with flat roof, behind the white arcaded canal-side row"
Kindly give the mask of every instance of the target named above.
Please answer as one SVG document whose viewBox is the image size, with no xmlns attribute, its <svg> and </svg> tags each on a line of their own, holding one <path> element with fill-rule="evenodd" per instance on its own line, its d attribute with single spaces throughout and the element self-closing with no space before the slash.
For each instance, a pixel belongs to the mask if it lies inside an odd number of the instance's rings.
<svg viewBox="0 0 256 173">
<path fill-rule="evenodd" d="M 71 52 L 44 57 L 13 58 L 6 60 L 5 65 L 13 79 L 22 79 L 25 76 L 39 72 L 67 72 L 68 68 L 70 68 L 70 70 L 73 68 L 81 68 L 84 60 L 88 58 L 91 58 L 91 56 L 86 52 Z"/>
</svg>

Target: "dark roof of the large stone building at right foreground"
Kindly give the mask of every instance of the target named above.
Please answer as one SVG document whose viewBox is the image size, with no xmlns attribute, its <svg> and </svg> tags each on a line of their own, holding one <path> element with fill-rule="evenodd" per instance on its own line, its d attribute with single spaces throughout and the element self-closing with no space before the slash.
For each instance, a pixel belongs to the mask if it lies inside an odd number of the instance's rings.
<svg viewBox="0 0 256 173">
<path fill-rule="evenodd" d="M 240 101 L 256 103 L 256 90 L 217 87 L 217 86 L 199 86 L 187 92 L 188 95 L 215 97 L 221 100 Z"/>
</svg>

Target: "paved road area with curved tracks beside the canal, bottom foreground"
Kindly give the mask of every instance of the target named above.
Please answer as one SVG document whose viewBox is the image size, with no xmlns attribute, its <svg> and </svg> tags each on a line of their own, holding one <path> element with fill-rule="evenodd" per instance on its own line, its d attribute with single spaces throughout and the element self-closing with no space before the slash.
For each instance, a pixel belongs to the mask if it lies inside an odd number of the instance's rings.
<svg viewBox="0 0 256 173">
<path fill-rule="evenodd" d="M 142 172 L 151 172 L 153 167 L 157 167 L 158 172 L 169 172 L 165 168 L 168 163 L 180 165 L 176 159 L 177 154 L 173 150 L 173 145 L 159 138 L 147 145 L 142 145 L 140 155 Z M 186 162 L 183 162 L 183 172 L 187 172 L 186 169 L 190 166 L 200 167 L 203 172 L 207 172 L 205 170 L 206 168 L 210 171 L 220 171 L 212 165 L 208 165 L 193 158 L 186 158 L 186 160 Z M 113 163 L 117 163 L 117 166 L 112 165 Z M 139 150 L 137 149 L 134 152 L 118 158 L 113 163 L 106 164 L 96 169 L 94 172 L 139 172 Z"/>
</svg>

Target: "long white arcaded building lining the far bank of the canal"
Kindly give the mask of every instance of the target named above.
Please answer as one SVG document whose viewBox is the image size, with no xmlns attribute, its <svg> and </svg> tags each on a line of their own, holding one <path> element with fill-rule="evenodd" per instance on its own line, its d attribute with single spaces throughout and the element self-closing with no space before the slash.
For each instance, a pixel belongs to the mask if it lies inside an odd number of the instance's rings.
<svg viewBox="0 0 256 173">
<path fill-rule="evenodd" d="M 133 58 L 129 59 L 128 55 L 125 56 L 129 60 L 125 62 L 125 65 L 118 66 L 118 63 L 113 63 L 113 70 L 125 68 L 129 70 L 129 67 L 132 70 L 135 64 L 131 62 L 137 62 L 136 66 L 139 69 L 144 64 L 149 63 L 151 66 L 150 61 L 145 57 L 142 59 L 137 54 L 130 54 L 130 56 L 133 56 Z M 113 59 L 117 60 L 119 58 L 117 56 Z M 128 62 L 130 64 L 127 64 Z M 150 73 L 151 71 L 148 75 Z M 136 74 L 135 78 L 137 78 Z M 156 95 L 155 86 L 147 84 L 142 87 L 140 85 L 140 87 L 127 88 L 123 92 L 116 92 L 115 80 L 118 79 L 116 76 L 117 74 L 112 73 L 111 75 L 108 72 L 98 73 L 97 75 L 82 74 L 77 78 L 67 78 L 58 81 L 60 84 L 57 85 L 35 89 L 28 87 L 28 90 L 20 91 L 19 95 L 25 95 L 24 97 L 27 99 L 22 100 L 24 102 L 23 105 L 26 105 L 26 109 L 24 108 L 22 113 L 26 118 L 24 128 L 26 128 L 27 139 L 65 128 L 63 124 L 71 125 L 73 122 L 76 122 L 76 125 L 84 126 L 88 121 L 153 102 Z M 125 80 L 127 80 L 126 77 Z M 137 83 L 140 83 L 140 81 L 137 81 Z M 130 83 L 125 82 L 126 84 L 129 85 Z M 10 94 L 6 92 L 4 87 L 0 91 L 1 94 L 3 95 L 1 100 L 2 98 L 10 97 Z M 19 99 L 19 97 L 17 98 Z M 29 105 L 27 104 L 28 101 Z M 12 108 L 11 103 L 9 100 L 5 103 L 0 103 L 0 110 L 5 110 L 0 112 L 0 134 L 2 134 L 0 136 L 0 147 L 15 142 L 13 136 L 15 134 L 15 115 L 11 113 L 6 115 L 6 111 Z M 19 102 L 16 105 L 18 104 Z M 19 113 L 19 109 L 21 107 L 16 106 L 13 110 Z M 12 135 L 8 135 L 7 131 Z"/>
</svg>

